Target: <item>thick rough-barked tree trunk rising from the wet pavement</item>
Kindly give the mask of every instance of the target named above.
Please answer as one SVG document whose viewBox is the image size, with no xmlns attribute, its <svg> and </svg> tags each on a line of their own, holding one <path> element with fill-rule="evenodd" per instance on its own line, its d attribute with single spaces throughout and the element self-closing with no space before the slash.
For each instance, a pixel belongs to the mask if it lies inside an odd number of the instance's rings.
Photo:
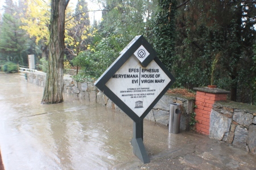
<svg viewBox="0 0 256 170">
<path fill-rule="evenodd" d="M 63 101 L 64 24 L 67 3 L 65 0 L 51 1 L 48 70 L 42 104 L 61 103 Z"/>
</svg>

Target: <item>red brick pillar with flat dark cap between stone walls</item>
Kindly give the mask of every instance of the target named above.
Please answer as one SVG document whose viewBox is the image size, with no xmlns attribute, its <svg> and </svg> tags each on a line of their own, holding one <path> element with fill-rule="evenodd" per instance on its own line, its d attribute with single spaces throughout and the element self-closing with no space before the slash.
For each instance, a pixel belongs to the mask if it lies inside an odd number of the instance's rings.
<svg viewBox="0 0 256 170">
<path fill-rule="evenodd" d="M 209 135 L 210 113 L 212 105 L 217 100 L 226 100 L 229 91 L 218 88 L 194 88 L 196 90 L 196 108 L 195 119 L 198 121 L 195 125 L 196 131 L 205 135 Z"/>
</svg>

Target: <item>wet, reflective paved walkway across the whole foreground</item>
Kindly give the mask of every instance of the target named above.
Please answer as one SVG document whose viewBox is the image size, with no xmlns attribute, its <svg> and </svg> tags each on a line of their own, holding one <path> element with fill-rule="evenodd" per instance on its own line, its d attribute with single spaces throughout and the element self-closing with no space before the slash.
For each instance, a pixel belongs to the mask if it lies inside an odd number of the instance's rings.
<svg viewBox="0 0 256 170">
<path fill-rule="evenodd" d="M 0 73 L 0 147 L 5 169 L 256 169 L 256 155 L 192 132 L 144 121 L 143 164 L 124 113 L 64 96 L 42 105 L 43 87 Z"/>
</svg>

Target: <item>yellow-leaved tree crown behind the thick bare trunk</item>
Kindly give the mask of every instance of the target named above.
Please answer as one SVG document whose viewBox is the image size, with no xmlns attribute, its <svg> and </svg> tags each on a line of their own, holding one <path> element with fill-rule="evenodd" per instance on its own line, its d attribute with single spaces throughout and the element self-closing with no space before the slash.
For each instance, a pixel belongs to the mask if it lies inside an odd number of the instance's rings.
<svg viewBox="0 0 256 170">
<path fill-rule="evenodd" d="M 46 57 L 49 43 L 49 19 L 51 15 L 50 0 L 34 0 L 27 2 L 27 11 L 22 26 L 30 37 L 35 37 L 36 44 L 41 45 L 42 58 Z M 97 30 L 89 32 L 90 20 L 88 15 L 88 3 L 84 0 L 77 2 L 75 13 L 72 6 L 65 10 L 65 49 L 69 58 L 77 56 L 81 50 L 85 50 L 90 44 L 90 37 Z M 75 15 L 75 17 L 73 16 Z"/>
</svg>

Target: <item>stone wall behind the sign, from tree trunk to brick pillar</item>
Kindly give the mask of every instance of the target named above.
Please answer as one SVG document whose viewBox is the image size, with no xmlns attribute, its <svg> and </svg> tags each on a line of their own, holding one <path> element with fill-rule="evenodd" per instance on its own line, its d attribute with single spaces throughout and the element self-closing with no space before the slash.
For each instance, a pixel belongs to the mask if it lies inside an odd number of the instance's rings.
<svg viewBox="0 0 256 170">
<path fill-rule="evenodd" d="M 105 107 L 121 111 L 117 105 L 115 105 L 110 99 L 108 99 L 108 97 L 99 91 L 93 83 L 90 82 L 77 83 L 74 80 L 64 80 L 64 93 L 73 94 L 80 99 L 86 99 L 104 105 Z M 193 105 L 195 104 L 195 98 L 193 97 L 184 98 L 166 94 L 158 101 L 145 119 L 158 122 L 159 124 L 168 125 L 171 103 L 180 103 L 182 105 L 180 129 L 190 130 L 190 113 L 193 112 Z"/>
</svg>

